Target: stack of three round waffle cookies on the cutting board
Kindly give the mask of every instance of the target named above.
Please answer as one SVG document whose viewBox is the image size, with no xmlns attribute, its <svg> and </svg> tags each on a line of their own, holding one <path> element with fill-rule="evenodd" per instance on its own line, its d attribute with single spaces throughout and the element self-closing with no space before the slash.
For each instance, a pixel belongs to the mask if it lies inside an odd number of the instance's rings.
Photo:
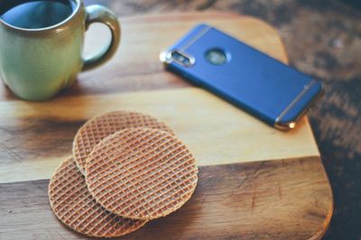
<svg viewBox="0 0 361 240">
<path fill-rule="evenodd" d="M 88 236 L 129 234 L 190 199 L 198 169 L 170 126 L 151 115 L 98 115 L 76 134 L 72 156 L 51 177 L 51 208 Z"/>
</svg>

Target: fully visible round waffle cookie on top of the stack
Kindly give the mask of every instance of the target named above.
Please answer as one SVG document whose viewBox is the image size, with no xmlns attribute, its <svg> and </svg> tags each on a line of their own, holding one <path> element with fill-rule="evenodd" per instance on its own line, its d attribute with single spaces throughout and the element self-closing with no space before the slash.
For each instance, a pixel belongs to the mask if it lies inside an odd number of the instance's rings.
<svg viewBox="0 0 361 240">
<path fill-rule="evenodd" d="M 197 185 L 195 160 L 174 135 L 128 128 L 98 143 L 86 164 L 88 189 L 107 210 L 133 219 L 164 217 Z"/>
</svg>

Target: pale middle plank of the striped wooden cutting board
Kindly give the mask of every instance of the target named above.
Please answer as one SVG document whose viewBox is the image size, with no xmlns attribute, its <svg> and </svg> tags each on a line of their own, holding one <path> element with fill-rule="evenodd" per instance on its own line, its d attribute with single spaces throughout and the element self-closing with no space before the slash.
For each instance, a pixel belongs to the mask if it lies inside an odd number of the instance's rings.
<svg viewBox="0 0 361 240">
<path fill-rule="evenodd" d="M 117 109 L 171 125 L 199 166 L 319 156 L 307 118 L 294 131 L 282 132 L 199 88 L 0 102 L 0 183 L 49 179 L 49 170 L 71 154 L 79 126 Z"/>
</svg>

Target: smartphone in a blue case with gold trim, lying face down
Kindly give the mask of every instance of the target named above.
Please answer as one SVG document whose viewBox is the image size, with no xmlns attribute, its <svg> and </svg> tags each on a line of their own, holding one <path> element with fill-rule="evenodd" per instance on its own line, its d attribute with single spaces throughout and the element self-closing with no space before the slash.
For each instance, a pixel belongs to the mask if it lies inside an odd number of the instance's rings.
<svg viewBox="0 0 361 240">
<path fill-rule="evenodd" d="M 294 128 L 323 92 L 318 80 L 208 24 L 194 27 L 160 59 L 166 69 L 281 130 Z"/>
</svg>

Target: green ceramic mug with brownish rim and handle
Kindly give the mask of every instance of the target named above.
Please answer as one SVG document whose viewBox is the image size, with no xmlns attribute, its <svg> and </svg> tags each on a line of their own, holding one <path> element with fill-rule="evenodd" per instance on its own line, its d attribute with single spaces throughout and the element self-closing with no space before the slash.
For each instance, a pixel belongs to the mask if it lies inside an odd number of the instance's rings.
<svg viewBox="0 0 361 240">
<path fill-rule="evenodd" d="M 0 0 L 0 10 L 14 1 Z M 16 96 L 50 99 L 69 88 L 80 71 L 94 69 L 116 53 L 121 35 L 116 15 L 100 5 L 67 1 L 73 5 L 69 16 L 44 28 L 23 28 L 0 17 L 0 78 Z M 91 23 L 105 23 L 112 39 L 103 51 L 83 59 L 84 36 Z"/>
</svg>

